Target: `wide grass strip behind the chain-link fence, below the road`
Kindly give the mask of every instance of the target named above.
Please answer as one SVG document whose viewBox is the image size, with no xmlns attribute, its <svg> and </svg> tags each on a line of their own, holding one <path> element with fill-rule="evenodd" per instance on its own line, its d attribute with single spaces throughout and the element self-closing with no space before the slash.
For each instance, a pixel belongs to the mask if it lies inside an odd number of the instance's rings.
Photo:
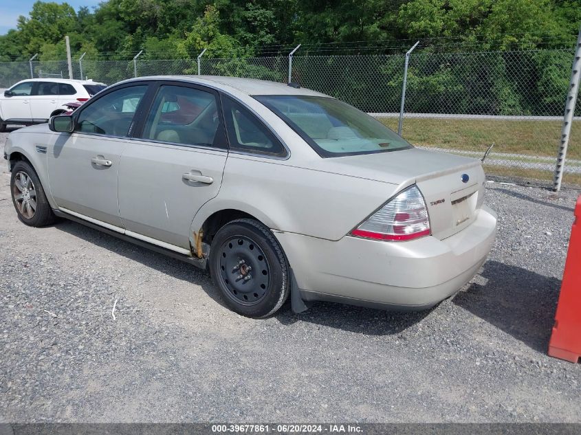
<svg viewBox="0 0 581 435">
<path fill-rule="evenodd" d="M 379 120 L 397 131 L 397 118 L 379 118 Z M 560 121 L 404 118 L 402 135 L 414 145 L 484 153 L 494 142 L 495 153 L 556 158 L 561 126 Z M 571 126 L 567 157 L 581 159 L 581 121 L 573 121 Z"/>
</svg>

